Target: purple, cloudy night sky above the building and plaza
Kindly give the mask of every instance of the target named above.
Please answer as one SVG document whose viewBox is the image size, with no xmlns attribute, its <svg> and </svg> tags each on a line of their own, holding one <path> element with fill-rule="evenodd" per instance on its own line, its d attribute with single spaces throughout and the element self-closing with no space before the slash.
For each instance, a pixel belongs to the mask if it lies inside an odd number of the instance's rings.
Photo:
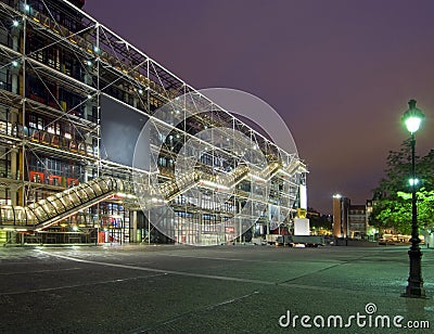
<svg viewBox="0 0 434 334">
<path fill-rule="evenodd" d="M 408 137 L 410 98 L 434 139 L 432 0 L 87 0 L 84 10 L 196 89 L 268 102 L 308 164 L 308 205 L 365 204 Z"/>
</svg>

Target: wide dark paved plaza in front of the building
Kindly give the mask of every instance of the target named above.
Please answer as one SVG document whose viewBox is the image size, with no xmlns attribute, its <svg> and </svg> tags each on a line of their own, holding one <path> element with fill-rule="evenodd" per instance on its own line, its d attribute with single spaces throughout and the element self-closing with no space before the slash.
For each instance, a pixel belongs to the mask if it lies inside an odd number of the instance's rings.
<svg viewBox="0 0 434 334">
<path fill-rule="evenodd" d="M 434 252 L 423 249 L 430 298 L 411 299 L 400 297 L 407 249 L 2 247 L 0 332 L 406 333 L 434 326 Z"/>
</svg>

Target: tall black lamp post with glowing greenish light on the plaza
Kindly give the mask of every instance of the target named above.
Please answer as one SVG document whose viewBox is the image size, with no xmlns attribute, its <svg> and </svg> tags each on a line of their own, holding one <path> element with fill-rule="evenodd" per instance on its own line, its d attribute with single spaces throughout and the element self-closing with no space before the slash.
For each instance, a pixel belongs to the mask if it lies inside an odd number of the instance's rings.
<svg viewBox="0 0 434 334">
<path fill-rule="evenodd" d="M 420 251 L 419 243 L 419 227 L 418 227 L 418 208 L 416 203 L 416 164 L 414 164 L 414 146 L 416 139 L 414 132 L 419 130 L 423 118 L 425 117 L 421 110 L 416 107 L 416 100 L 408 102 L 409 108 L 404 113 L 403 121 L 405 123 L 407 130 L 411 133 L 411 246 L 408 251 L 410 258 L 410 273 L 408 278 L 408 285 L 406 292 L 403 294 L 404 297 L 416 297 L 424 298 L 425 290 L 423 287 L 422 279 L 422 266 L 421 258 L 422 252 Z"/>
</svg>

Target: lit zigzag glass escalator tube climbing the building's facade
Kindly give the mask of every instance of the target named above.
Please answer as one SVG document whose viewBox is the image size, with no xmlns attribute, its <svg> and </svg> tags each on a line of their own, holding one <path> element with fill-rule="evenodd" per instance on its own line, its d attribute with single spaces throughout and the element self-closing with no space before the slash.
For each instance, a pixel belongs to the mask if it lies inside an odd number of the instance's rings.
<svg viewBox="0 0 434 334">
<path fill-rule="evenodd" d="M 176 180 L 159 184 L 159 193 L 166 201 L 171 201 L 194 185 L 203 188 L 233 189 L 247 177 L 269 179 L 281 169 L 280 164 L 270 164 L 259 175 L 253 175 L 247 166 L 241 165 L 232 172 L 216 178 L 203 171 L 195 170 Z M 112 177 L 101 177 L 80 183 L 77 187 L 40 200 L 28 206 L 0 207 L 0 228 L 14 228 L 39 231 L 67 217 L 77 214 L 99 202 L 106 201 L 116 193 L 133 194 L 133 185 Z"/>
</svg>

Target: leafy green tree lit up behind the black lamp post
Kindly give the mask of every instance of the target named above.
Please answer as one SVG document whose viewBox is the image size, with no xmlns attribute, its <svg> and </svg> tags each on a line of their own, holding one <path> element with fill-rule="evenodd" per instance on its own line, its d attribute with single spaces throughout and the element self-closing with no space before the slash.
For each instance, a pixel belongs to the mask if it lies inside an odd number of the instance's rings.
<svg viewBox="0 0 434 334">
<path fill-rule="evenodd" d="M 398 233 L 411 233 L 411 146 L 407 140 L 399 151 L 391 151 L 387 156 L 385 178 L 374 190 L 373 210 L 370 224 L 379 228 L 395 228 Z M 416 157 L 418 223 L 429 229 L 434 223 L 434 150 L 423 157 Z"/>
</svg>

